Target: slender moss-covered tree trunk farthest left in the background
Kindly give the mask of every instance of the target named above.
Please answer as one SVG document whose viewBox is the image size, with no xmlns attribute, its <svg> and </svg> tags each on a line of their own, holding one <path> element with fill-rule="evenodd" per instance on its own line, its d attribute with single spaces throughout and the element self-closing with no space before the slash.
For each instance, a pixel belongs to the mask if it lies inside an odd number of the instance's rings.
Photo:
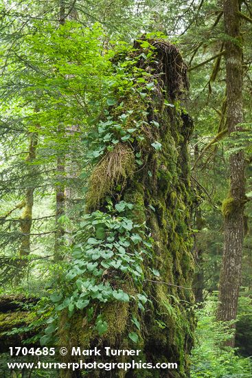
<svg viewBox="0 0 252 378">
<path fill-rule="evenodd" d="M 31 133 L 30 136 L 30 146 L 29 153 L 27 155 L 27 168 L 30 172 L 30 176 L 36 170 L 36 166 L 33 166 L 34 159 L 36 158 L 36 147 L 38 145 L 38 134 Z M 20 219 L 20 230 L 21 230 L 21 245 L 19 248 L 19 256 L 21 258 L 30 254 L 30 233 L 32 228 L 32 208 L 34 202 L 34 188 L 30 186 L 25 191 L 25 199 L 23 202 L 23 213 Z M 24 260 L 25 264 L 25 260 Z"/>
</svg>

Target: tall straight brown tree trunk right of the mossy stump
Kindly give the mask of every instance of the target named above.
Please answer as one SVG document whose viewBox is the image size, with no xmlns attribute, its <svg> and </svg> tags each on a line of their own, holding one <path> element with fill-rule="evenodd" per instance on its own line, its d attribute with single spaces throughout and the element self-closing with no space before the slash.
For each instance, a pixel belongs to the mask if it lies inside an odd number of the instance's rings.
<svg viewBox="0 0 252 378">
<path fill-rule="evenodd" d="M 227 128 L 229 135 L 239 130 L 242 111 L 242 39 L 238 0 L 224 0 L 223 10 L 226 42 Z M 222 204 L 224 218 L 224 248 L 220 271 L 218 320 L 236 320 L 242 268 L 244 238 L 244 153 L 232 153 L 229 158 L 230 190 Z M 233 325 L 233 327 L 235 327 Z M 234 337 L 227 343 L 234 345 Z"/>
</svg>

